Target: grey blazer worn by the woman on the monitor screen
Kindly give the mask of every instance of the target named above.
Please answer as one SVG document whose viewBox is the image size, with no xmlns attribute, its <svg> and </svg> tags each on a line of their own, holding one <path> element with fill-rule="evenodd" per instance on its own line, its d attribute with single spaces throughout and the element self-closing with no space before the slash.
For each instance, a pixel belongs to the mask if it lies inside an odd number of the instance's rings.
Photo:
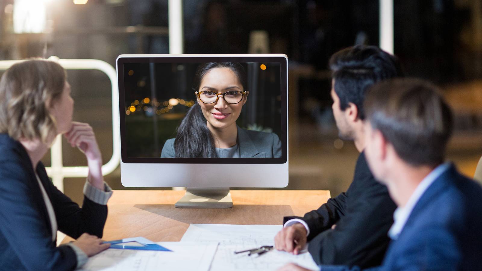
<svg viewBox="0 0 482 271">
<path fill-rule="evenodd" d="M 174 158 L 174 138 L 162 147 L 161 158 Z M 281 141 L 275 133 L 241 129 L 238 126 L 238 145 L 241 158 L 281 157 Z"/>
</svg>

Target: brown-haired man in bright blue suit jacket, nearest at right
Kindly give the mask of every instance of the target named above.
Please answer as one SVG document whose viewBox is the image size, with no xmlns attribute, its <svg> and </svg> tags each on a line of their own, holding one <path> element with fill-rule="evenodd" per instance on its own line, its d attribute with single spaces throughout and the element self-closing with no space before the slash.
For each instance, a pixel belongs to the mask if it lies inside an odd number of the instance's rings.
<svg viewBox="0 0 482 271">
<path fill-rule="evenodd" d="M 373 270 L 480 270 L 482 187 L 443 162 L 453 120 L 442 95 L 423 80 L 389 80 L 370 90 L 365 110 L 368 164 L 398 206 L 393 241 Z"/>
</svg>

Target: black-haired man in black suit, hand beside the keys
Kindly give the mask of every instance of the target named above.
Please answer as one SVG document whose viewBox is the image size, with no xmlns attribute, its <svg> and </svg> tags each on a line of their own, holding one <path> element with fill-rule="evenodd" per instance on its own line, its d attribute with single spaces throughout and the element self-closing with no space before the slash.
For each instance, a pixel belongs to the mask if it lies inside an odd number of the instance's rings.
<svg viewBox="0 0 482 271">
<path fill-rule="evenodd" d="M 363 101 L 376 82 L 401 76 L 397 59 L 375 46 L 355 46 L 336 52 L 333 71 L 333 114 L 341 138 L 353 140 L 361 154 L 346 193 L 328 200 L 304 217 L 285 217 L 275 247 L 300 253 L 307 241 L 317 264 L 363 268 L 380 265 L 388 247 L 388 229 L 396 206 L 387 187 L 375 181 L 365 160 Z"/>
</svg>

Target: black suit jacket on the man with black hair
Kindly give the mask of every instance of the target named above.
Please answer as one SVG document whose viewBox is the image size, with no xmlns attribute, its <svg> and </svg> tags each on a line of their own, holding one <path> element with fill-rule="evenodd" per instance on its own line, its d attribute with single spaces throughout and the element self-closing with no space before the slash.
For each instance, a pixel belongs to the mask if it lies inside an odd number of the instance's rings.
<svg viewBox="0 0 482 271">
<path fill-rule="evenodd" d="M 378 266 L 387 250 L 395 204 L 360 154 L 346 193 L 305 214 L 309 253 L 317 264 Z M 297 217 L 285 217 L 289 219 Z M 336 224 L 334 230 L 331 226 Z"/>
</svg>

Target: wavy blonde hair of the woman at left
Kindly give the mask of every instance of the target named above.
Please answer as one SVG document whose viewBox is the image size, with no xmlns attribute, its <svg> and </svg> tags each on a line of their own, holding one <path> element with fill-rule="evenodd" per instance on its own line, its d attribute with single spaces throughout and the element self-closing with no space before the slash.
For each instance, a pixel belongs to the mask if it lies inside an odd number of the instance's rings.
<svg viewBox="0 0 482 271">
<path fill-rule="evenodd" d="M 62 95 L 66 77 L 64 68 L 49 60 L 11 66 L 0 79 L 0 133 L 14 140 L 52 140 L 57 127 L 49 108 Z"/>
</svg>

